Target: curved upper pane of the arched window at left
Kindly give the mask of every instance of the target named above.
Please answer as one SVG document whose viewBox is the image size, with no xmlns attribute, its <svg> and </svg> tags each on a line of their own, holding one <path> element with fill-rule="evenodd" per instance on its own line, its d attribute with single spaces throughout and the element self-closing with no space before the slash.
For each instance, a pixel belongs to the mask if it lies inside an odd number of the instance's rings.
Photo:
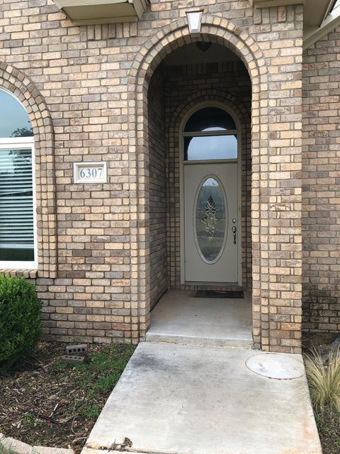
<svg viewBox="0 0 340 454">
<path fill-rule="evenodd" d="M 14 96 L 0 90 L 0 137 L 32 135 L 32 125 L 26 110 Z"/>
</svg>

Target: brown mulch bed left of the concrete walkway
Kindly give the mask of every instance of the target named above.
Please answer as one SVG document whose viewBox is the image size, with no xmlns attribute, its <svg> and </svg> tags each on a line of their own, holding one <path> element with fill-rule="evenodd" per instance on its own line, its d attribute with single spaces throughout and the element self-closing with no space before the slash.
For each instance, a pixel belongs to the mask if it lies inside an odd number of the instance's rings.
<svg viewBox="0 0 340 454">
<path fill-rule="evenodd" d="M 40 342 L 33 357 L 16 366 L 10 375 L 0 377 L 0 432 L 5 436 L 30 445 L 72 448 L 75 453 L 80 452 L 132 349 L 124 345 L 112 347 L 114 355 L 118 355 L 120 370 L 116 371 L 117 376 L 111 377 L 107 361 L 107 358 L 113 360 L 111 350 L 89 345 L 89 356 L 101 358 L 98 365 L 71 366 L 60 361 L 65 346 L 64 343 Z M 103 360 L 107 361 L 106 367 Z M 98 380 L 101 385 L 96 387 Z M 29 411 L 51 417 L 51 420 Z"/>
</svg>

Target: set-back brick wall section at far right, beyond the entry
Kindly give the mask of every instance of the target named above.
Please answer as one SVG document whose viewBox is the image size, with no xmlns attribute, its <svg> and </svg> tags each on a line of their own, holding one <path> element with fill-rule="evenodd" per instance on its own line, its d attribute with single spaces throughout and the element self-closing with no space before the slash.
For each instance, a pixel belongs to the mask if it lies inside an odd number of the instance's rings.
<svg viewBox="0 0 340 454">
<path fill-rule="evenodd" d="M 340 331 L 340 28 L 303 56 L 303 328 Z"/>
</svg>

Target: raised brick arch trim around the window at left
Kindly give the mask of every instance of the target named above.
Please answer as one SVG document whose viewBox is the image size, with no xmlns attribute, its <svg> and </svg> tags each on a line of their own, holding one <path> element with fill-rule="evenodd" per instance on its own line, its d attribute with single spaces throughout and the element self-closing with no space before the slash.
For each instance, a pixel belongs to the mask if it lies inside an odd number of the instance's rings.
<svg viewBox="0 0 340 454">
<path fill-rule="evenodd" d="M 13 93 L 32 123 L 38 225 L 38 275 L 55 277 L 57 228 L 55 209 L 54 132 L 50 111 L 35 84 L 23 72 L 0 62 L 0 87 Z M 16 272 L 18 274 L 19 272 Z M 23 273 L 26 275 L 26 273 Z M 30 277 L 36 273 L 30 272 Z"/>
</svg>

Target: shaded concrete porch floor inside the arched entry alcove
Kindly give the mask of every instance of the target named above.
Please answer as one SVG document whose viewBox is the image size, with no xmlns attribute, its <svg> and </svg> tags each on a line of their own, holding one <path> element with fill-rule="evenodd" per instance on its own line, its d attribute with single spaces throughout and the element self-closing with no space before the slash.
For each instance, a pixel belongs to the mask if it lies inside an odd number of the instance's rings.
<svg viewBox="0 0 340 454">
<path fill-rule="evenodd" d="M 244 292 L 244 299 L 196 298 L 194 294 L 166 292 L 152 310 L 147 341 L 251 347 L 249 292 Z"/>
</svg>

